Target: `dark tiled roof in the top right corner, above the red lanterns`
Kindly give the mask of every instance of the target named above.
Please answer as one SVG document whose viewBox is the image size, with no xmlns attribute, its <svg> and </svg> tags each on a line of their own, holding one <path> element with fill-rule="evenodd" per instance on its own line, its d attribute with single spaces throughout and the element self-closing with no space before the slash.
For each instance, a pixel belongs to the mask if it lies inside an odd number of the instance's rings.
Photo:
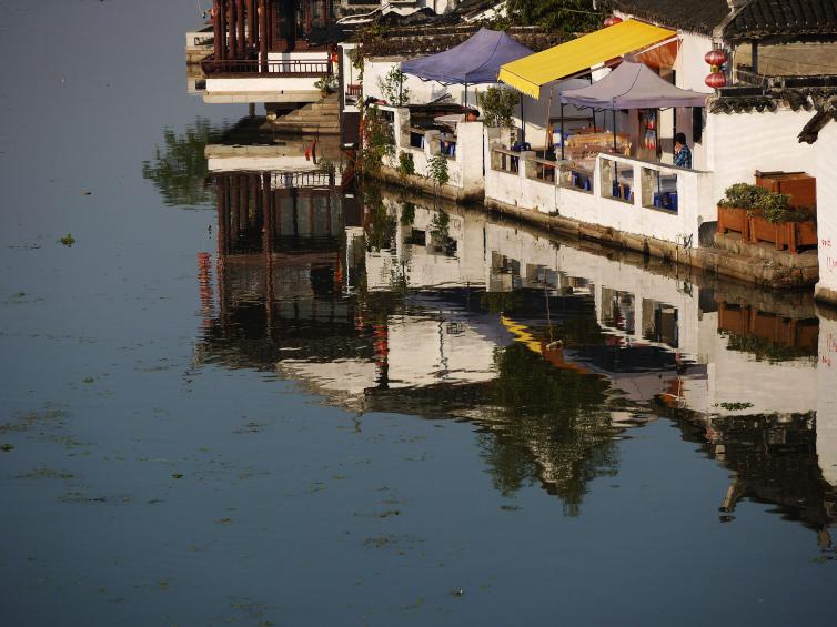
<svg viewBox="0 0 837 627">
<path fill-rule="evenodd" d="M 752 0 L 727 24 L 724 34 L 733 40 L 835 36 L 837 0 Z"/>
</svg>

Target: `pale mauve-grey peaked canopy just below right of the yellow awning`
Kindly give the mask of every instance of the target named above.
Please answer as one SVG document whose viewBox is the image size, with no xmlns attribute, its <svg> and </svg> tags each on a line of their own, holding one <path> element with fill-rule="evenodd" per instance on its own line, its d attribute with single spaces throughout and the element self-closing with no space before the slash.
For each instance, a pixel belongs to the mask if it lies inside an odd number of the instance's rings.
<svg viewBox="0 0 837 627">
<path fill-rule="evenodd" d="M 561 100 L 564 104 L 595 109 L 668 109 L 705 107 L 707 95 L 676 88 L 643 63 L 623 61 L 592 85 L 565 91 Z"/>
</svg>

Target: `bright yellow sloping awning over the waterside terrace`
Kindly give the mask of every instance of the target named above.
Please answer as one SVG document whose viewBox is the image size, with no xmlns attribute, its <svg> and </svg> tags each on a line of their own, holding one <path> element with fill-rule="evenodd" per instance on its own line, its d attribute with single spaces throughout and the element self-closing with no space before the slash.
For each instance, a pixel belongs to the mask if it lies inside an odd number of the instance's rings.
<svg viewBox="0 0 837 627">
<path fill-rule="evenodd" d="M 676 37 L 675 31 L 626 20 L 543 52 L 506 63 L 500 80 L 532 98 L 541 98 L 546 83 Z"/>
</svg>

